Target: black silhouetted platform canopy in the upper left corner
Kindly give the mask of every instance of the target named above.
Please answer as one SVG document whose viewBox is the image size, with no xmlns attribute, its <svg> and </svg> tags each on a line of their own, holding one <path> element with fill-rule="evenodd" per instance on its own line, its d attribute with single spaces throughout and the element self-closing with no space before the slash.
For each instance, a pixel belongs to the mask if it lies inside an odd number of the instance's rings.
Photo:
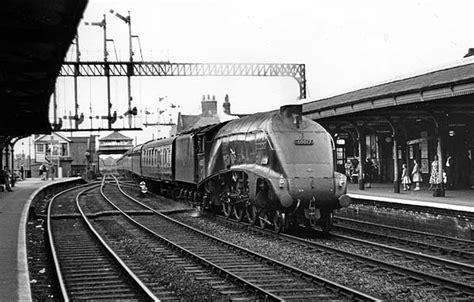
<svg viewBox="0 0 474 302">
<path fill-rule="evenodd" d="M 51 132 L 50 97 L 87 2 L 0 2 L 0 138 Z"/>
</svg>

